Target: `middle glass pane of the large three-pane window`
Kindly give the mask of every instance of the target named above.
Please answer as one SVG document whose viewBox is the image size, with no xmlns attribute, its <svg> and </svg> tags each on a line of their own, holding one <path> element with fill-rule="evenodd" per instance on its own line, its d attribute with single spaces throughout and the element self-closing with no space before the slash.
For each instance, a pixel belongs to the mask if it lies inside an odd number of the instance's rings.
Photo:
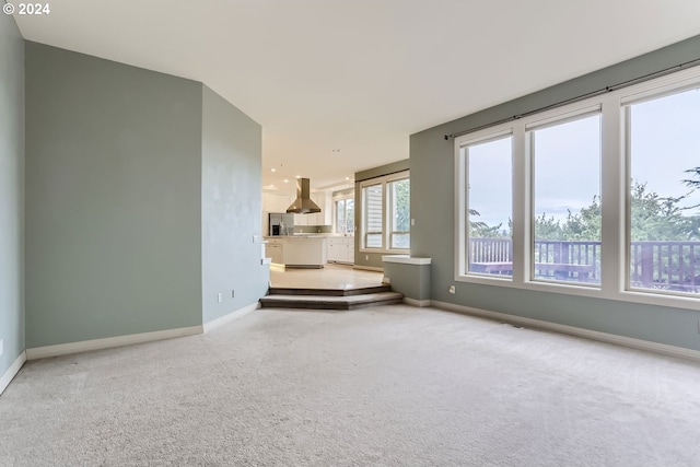
<svg viewBox="0 0 700 467">
<path fill-rule="evenodd" d="M 534 280 L 600 282 L 600 113 L 528 127 Z"/>
</svg>

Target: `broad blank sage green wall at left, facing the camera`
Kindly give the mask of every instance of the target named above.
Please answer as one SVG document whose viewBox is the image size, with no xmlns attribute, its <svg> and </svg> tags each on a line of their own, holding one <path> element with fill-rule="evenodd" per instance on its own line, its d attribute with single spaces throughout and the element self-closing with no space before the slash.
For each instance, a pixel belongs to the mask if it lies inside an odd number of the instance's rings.
<svg viewBox="0 0 700 467">
<path fill-rule="evenodd" d="M 25 54 L 26 347 L 200 325 L 201 84 Z"/>
</svg>

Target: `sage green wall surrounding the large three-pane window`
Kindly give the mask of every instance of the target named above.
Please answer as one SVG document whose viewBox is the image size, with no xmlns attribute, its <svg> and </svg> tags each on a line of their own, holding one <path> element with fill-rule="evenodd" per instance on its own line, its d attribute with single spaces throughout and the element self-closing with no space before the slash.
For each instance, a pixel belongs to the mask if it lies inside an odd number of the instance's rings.
<svg viewBox="0 0 700 467">
<path fill-rule="evenodd" d="M 432 258 L 431 299 L 700 350 L 698 312 L 454 283 L 454 141 L 445 135 L 534 110 L 700 58 L 700 36 L 412 135 L 411 255 Z M 465 90 L 465 92 L 470 92 Z"/>
</svg>

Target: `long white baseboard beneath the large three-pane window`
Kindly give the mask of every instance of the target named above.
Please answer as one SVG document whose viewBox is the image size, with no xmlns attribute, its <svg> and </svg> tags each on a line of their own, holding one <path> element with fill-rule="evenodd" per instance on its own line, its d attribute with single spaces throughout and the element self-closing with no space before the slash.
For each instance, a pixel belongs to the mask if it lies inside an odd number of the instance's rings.
<svg viewBox="0 0 700 467">
<path fill-rule="evenodd" d="M 522 316 L 509 315 L 505 313 L 489 312 L 487 310 L 474 308 L 470 306 L 456 305 L 454 303 L 431 301 L 432 306 L 448 312 L 462 313 L 465 315 L 479 316 L 482 318 L 495 319 L 503 323 L 529 326 L 544 330 L 550 330 L 571 336 L 583 337 L 616 346 L 629 347 L 648 352 L 661 353 L 668 357 L 676 357 L 686 360 L 700 362 L 700 351 L 686 349 L 684 347 L 669 346 L 667 343 L 653 342 L 650 340 L 635 339 L 633 337 L 618 336 L 615 334 L 602 332 L 574 326 L 560 325 L 557 323 L 542 322 L 539 319 L 526 318 Z"/>
</svg>

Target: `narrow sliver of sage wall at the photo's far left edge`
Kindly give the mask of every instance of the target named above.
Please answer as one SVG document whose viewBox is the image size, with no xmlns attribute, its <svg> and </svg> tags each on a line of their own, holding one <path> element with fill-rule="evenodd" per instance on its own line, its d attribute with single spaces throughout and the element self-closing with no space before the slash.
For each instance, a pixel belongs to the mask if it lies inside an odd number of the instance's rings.
<svg viewBox="0 0 700 467">
<path fill-rule="evenodd" d="M 0 14 L 0 376 L 24 351 L 24 39 Z"/>
</svg>

